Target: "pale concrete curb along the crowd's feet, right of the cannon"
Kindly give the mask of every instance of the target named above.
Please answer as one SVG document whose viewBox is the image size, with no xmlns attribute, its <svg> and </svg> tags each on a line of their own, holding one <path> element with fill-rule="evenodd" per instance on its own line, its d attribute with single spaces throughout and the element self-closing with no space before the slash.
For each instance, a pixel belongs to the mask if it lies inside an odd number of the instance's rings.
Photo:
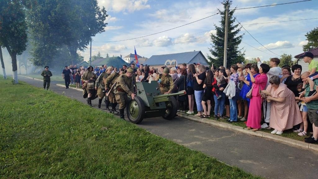
<svg viewBox="0 0 318 179">
<path fill-rule="evenodd" d="M 242 133 L 245 133 L 245 134 L 258 136 L 258 137 L 262 137 L 262 138 L 266 138 L 266 139 L 270 139 L 270 140 L 275 140 L 275 141 L 278 141 L 280 143 L 287 144 L 287 145 L 293 146 L 293 147 L 301 147 L 301 148 L 305 148 L 305 149 L 318 151 L 318 145 L 315 145 L 315 144 L 308 144 L 308 143 L 303 142 L 303 141 L 289 139 L 289 138 L 286 138 L 286 137 L 281 137 L 281 136 L 274 135 L 274 134 L 271 134 L 271 133 L 268 133 L 268 132 L 262 132 L 262 131 L 253 132 L 251 130 L 247 130 L 246 128 L 243 128 L 243 127 L 240 127 L 240 126 L 231 125 L 231 124 L 224 123 L 224 122 L 219 122 L 219 121 L 216 121 L 216 120 L 213 120 L 213 119 L 198 118 L 198 117 L 195 117 L 193 115 L 185 114 L 183 112 L 177 112 L 177 114 L 180 117 L 182 117 L 182 118 L 189 119 L 189 120 L 192 120 L 192 121 L 197 121 L 197 122 L 201 122 L 201 123 L 204 123 L 204 124 L 209 124 L 209 125 L 212 125 L 212 126 L 218 126 L 218 127 L 230 129 L 232 131 L 242 132 Z"/>
</svg>

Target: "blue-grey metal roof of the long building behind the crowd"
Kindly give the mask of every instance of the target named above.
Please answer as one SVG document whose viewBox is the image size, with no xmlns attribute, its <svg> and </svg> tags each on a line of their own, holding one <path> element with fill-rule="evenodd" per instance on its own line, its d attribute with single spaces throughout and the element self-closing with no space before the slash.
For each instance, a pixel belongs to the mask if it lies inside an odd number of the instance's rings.
<svg viewBox="0 0 318 179">
<path fill-rule="evenodd" d="M 199 56 L 197 56 L 199 54 Z M 195 58 L 196 57 L 196 58 Z M 147 60 L 147 65 L 164 65 L 167 60 L 176 60 L 178 64 L 182 63 L 200 63 L 207 65 L 207 60 L 201 51 L 182 52 L 177 54 L 152 55 Z"/>
</svg>

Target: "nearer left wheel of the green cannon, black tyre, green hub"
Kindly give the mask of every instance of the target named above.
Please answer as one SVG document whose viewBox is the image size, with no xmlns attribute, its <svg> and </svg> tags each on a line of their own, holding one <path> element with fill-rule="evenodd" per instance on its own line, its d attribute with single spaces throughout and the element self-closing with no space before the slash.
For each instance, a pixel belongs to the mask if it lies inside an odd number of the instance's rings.
<svg viewBox="0 0 318 179">
<path fill-rule="evenodd" d="M 134 100 L 130 100 L 126 112 L 130 122 L 134 124 L 140 123 L 145 114 L 145 105 L 142 99 L 139 96 L 135 96 Z"/>
</svg>

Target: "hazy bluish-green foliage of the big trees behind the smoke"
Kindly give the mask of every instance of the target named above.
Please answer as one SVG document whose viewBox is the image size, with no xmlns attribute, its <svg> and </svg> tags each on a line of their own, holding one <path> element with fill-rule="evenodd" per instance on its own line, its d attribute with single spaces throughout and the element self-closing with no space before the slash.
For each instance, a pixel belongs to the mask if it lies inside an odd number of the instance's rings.
<svg viewBox="0 0 318 179">
<path fill-rule="evenodd" d="M 97 0 L 27 0 L 26 7 L 36 66 L 52 66 L 61 54 L 75 64 L 77 51 L 83 51 L 107 25 L 107 11 Z"/>
</svg>

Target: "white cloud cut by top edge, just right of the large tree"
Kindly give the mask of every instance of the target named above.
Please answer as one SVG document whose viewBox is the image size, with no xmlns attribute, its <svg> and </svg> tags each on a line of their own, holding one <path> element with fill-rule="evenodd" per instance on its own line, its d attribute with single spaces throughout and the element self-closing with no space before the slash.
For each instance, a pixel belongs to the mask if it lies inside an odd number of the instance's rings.
<svg viewBox="0 0 318 179">
<path fill-rule="evenodd" d="M 100 6 L 105 6 L 107 10 L 115 12 L 134 12 L 142 9 L 149 9 L 148 0 L 98 0 Z"/>
</svg>

